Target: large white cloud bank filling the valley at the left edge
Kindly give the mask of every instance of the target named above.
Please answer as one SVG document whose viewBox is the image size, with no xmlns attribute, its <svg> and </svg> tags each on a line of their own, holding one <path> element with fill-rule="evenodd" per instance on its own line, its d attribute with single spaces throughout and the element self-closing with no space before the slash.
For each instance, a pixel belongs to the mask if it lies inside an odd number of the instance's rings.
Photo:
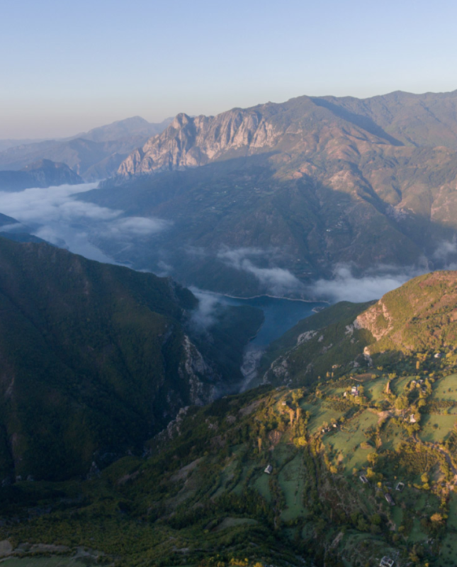
<svg viewBox="0 0 457 567">
<path fill-rule="evenodd" d="M 111 263 L 113 259 L 94 242 L 109 240 L 129 245 L 132 240 L 162 232 L 171 224 L 159 218 L 124 217 L 122 210 L 76 199 L 78 193 L 96 186 L 92 183 L 0 192 L 0 213 L 27 225 L 32 234 L 54 245 Z"/>
</svg>

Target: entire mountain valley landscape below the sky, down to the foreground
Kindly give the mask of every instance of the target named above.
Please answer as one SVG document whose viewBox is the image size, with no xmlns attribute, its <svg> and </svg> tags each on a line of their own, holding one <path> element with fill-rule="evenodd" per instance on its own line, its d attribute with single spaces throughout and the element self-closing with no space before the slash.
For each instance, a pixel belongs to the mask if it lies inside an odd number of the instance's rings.
<svg viewBox="0 0 457 567">
<path fill-rule="evenodd" d="M 457 564 L 456 103 L 0 152 L 6 567 Z"/>
</svg>

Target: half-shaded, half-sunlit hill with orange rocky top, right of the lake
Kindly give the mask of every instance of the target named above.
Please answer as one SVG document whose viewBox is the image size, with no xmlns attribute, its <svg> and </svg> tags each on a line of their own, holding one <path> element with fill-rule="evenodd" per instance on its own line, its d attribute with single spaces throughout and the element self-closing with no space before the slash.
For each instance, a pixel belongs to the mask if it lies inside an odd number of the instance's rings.
<svg viewBox="0 0 457 567">
<path fill-rule="evenodd" d="M 269 345 L 258 379 L 303 386 L 319 376 L 339 376 L 386 361 L 402 367 L 398 361 L 409 357 L 417 357 L 419 369 L 424 357 L 437 354 L 439 361 L 452 352 L 456 339 L 457 272 L 435 271 L 377 302 L 337 303 L 300 321 Z"/>
</svg>

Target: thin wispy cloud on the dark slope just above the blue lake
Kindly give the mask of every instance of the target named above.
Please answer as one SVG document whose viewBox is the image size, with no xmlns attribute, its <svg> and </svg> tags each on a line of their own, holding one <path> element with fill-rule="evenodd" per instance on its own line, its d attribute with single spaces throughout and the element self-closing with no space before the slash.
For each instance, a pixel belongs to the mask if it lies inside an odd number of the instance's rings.
<svg viewBox="0 0 457 567">
<path fill-rule="evenodd" d="M 288 270 L 278 267 L 262 268 L 254 264 L 254 259 L 268 259 L 269 251 L 259 248 L 221 249 L 218 259 L 227 266 L 252 274 L 274 295 L 283 296 L 303 290 L 303 284 Z"/>
</svg>

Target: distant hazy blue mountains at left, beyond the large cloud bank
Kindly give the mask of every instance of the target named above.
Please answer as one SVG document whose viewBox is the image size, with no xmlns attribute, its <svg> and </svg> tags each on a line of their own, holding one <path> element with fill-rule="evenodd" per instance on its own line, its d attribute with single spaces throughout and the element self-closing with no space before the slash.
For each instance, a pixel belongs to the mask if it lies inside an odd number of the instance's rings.
<svg viewBox="0 0 457 567">
<path fill-rule="evenodd" d="M 118 120 L 64 140 L 25 143 L 0 151 L 0 170 L 18 170 L 40 159 L 62 162 L 86 181 L 112 175 L 135 147 L 166 128 L 140 116 Z"/>
</svg>

